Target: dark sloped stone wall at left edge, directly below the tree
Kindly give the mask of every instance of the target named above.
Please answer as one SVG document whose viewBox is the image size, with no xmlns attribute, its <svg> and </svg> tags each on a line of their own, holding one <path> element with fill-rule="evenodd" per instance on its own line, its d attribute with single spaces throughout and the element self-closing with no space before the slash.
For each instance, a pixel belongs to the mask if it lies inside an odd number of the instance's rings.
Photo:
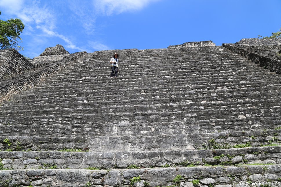
<svg viewBox="0 0 281 187">
<path fill-rule="evenodd" d="M 34 65 L 15 49 L 0 50 L 0 80 L 33 69 Z"/>
</svg>

